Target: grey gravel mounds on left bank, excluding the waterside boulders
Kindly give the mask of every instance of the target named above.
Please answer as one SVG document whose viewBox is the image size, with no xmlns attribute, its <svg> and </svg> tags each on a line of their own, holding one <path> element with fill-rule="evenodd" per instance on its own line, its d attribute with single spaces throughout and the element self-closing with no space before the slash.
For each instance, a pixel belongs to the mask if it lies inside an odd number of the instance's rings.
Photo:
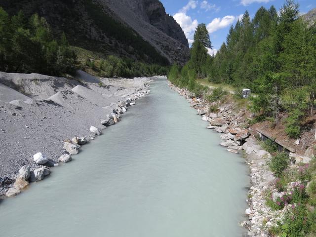
<svg viewBox="0 0 316 237">
<path fill-rule="evenodd" d="M 105 128 L 101 120 L 116 103 L 145 88 L 149 80 L 99 79 L 81 71 L 76 79 L 0 73 L 0 182 L 13 179 L 25 164 L 36 167 L 33 155 L 38 152 L 58 161 L 64 140 L 89 140 L 90 126 Z"/>
</svg>

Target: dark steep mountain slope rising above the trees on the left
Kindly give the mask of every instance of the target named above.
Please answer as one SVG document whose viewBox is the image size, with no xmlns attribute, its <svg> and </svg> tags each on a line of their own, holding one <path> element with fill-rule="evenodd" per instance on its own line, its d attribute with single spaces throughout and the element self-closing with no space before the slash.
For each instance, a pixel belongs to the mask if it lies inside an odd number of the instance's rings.
<svg viewBox="0 0 316 237">
<path fill-rule="evenodd" d="M 0 0 L 10 15 L 38 13 L 56 35 L 101 55 L 184 64 L 188 40 L 159 0 Z"/>
</svg>

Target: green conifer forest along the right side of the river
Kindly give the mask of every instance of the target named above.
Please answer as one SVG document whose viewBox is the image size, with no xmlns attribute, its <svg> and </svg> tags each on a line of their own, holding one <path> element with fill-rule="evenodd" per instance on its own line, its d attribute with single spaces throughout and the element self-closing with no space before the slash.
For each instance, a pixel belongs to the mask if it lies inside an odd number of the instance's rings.
<svg viewBox="0 0 316 237">
<path fill-rule="evenodd" d="M 286 133 L 298 138 L 302 121 L 314 115 L 316 91 L 316 27 L 300 17 L 299 4 L 286 0 L 279 9 L 259 8 L 253 18 L 248 11 L 231 26 L 226 42 L 216 56 L 207 54 L 211 41 L 205 24 L 195 32 L 190 61 L 173 65 L 169 79 L 182 87 L 203 93 L 196 83 L 205 79 L 249 88 L 251 110 L 257 119 L 278 122 L 286 113 Z"/>
</svg>

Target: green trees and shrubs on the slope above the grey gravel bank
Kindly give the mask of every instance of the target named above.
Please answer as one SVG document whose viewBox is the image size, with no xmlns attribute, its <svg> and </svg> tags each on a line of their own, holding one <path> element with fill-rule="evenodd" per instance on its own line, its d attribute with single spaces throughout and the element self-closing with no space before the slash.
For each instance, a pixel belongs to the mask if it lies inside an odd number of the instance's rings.
<svg viewBox="0 0 316 237">
<path fill-rule="evenodd" d="M 124 43 L 142 48 L 143 59 L 147 53 L 158 63 L 135 61 L 128 57 L 120 58 L 71 46 L 64 33 L 57 38 L 45 18 L 38 14 L 28 18 L 19 11 L 17 15 L 10 17 L 0 7 L 0 71 L 63 76 L 74 74 L 76 69 L 83 69 L 100 77 L 166 75 L 167 62 L 157 51 L 152 51 L 152 46 L 144 46 L 140 36 L 133 38 L 131 30 L 119 27 L 117 30 L 123 30 L 124 33 L 115 33 L 115 21 L 111 24 L 111 20 L 107 18 L 100 24 L 112 32 L 113 36 L 125 39 Z"/>
</svg>

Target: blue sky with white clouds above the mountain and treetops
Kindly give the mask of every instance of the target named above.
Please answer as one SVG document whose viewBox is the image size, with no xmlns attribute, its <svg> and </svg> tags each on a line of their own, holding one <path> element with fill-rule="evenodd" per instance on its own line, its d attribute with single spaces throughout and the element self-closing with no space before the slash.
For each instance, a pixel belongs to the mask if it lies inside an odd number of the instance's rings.
<svg viewBox="0 0 316 237">
<path fill-rule="evenodd" d="M 279 10 L 285 0 L 160 0 L 166 12 L 172 15 L 182 27 L 189 44 L 193 42 L 194 31 L 199 23 L 205 23 L 213 49 L 213 55 L 226 41 L 231 25 L 235 25 L 243 13 L 248 10 L 251 17 L 264 6 L 271 5 Z M 316 0 L 298 0 L 301 14 L 316 7 Z"/>
</svg>

